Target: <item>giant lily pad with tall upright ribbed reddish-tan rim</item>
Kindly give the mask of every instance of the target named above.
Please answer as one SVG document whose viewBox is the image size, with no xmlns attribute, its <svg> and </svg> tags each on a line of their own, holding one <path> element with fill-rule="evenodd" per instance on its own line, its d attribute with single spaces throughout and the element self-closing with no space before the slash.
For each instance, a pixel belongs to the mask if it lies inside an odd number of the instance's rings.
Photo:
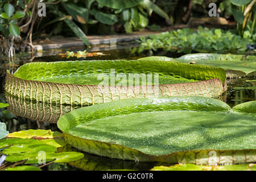
<svg viewBox="0 0 256 182">
<path fill-rule="evenodd" d="M 123 98 L 220 96 L 225 71 L 164 60 L 28 63 L 7 72 L 6 92 L 28 100 L 92 105 Z"/>
</svg>

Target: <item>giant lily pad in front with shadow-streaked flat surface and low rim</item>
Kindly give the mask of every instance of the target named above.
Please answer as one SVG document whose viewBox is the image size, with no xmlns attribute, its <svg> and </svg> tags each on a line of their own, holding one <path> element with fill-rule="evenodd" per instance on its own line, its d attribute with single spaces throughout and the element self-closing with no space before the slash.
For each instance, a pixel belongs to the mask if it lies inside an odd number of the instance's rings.
<svg viewBox="0 0 256 182">
<path fill-rule="evenodd" d="M 73 110 L 57 126 L 72 146 L 110 158 L 208 164 L 213 155 L 217 164 L 256 162 L 256 115 L 242 105 L 233 111 L 198 96 L 121 100 Z"/>
</svg>

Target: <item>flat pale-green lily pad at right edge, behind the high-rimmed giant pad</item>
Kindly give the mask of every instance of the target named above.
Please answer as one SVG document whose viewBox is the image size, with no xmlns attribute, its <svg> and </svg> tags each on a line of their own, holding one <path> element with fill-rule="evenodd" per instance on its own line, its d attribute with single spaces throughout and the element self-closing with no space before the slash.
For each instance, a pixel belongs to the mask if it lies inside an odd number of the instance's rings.
<svg viewBox="0 0 256 182">
<path fill-rule="evenodd" d="M 233 69 L 247 73 L 256 71 L 256 56 L 247 56 L 242 59 L 243 55 L 222 55 L 217 53 L 193 53 L 181 56 L 176 59 L 179 63 L 189 63 L 196 61 L 196 64 L 210 65 L 223 69 Z"/>
</svg>

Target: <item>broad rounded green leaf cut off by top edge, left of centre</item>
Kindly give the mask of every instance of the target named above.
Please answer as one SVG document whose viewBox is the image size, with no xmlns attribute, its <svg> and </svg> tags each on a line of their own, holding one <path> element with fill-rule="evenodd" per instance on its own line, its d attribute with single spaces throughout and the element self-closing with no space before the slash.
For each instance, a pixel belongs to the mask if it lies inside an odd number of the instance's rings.
<svg viewBox="0 0 256 182">
<path fill-rule="evenodd" d="M 110 7 L 113 9 L 127 9 L 139 5 L 143 0 L 96 0 L 101 6 Z"/>
</svg>

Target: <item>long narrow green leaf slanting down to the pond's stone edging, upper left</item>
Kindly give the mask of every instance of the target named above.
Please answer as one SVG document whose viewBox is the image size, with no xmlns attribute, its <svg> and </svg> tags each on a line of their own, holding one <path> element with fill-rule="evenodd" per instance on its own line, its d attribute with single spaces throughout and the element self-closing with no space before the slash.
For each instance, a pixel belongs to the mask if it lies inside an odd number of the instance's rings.
<svg viewBox="0 0 256 182">
<path fill-rule="evenodd" d="M 59 16 L 64 17 L 65 15 L 63 13 L 61 13 L 60 11 L 58 11 Z M 64 22 L 67 23 L 67 25 L 69 26 L 69 28 L 71 28 L 71 30 L 76 34 L 76 36 L 78 36 L 82 42 L 84 42 L 84 44 L 86 46 L 90 45 L 89 40 L 86 38 L 86 35 L 84 34 L 84 32 L 81 30 L 81 28 L 79 28 L 76 23 L 72 22 L 72 20 L 70 19 L 64 19 Z"/>
</svg>

